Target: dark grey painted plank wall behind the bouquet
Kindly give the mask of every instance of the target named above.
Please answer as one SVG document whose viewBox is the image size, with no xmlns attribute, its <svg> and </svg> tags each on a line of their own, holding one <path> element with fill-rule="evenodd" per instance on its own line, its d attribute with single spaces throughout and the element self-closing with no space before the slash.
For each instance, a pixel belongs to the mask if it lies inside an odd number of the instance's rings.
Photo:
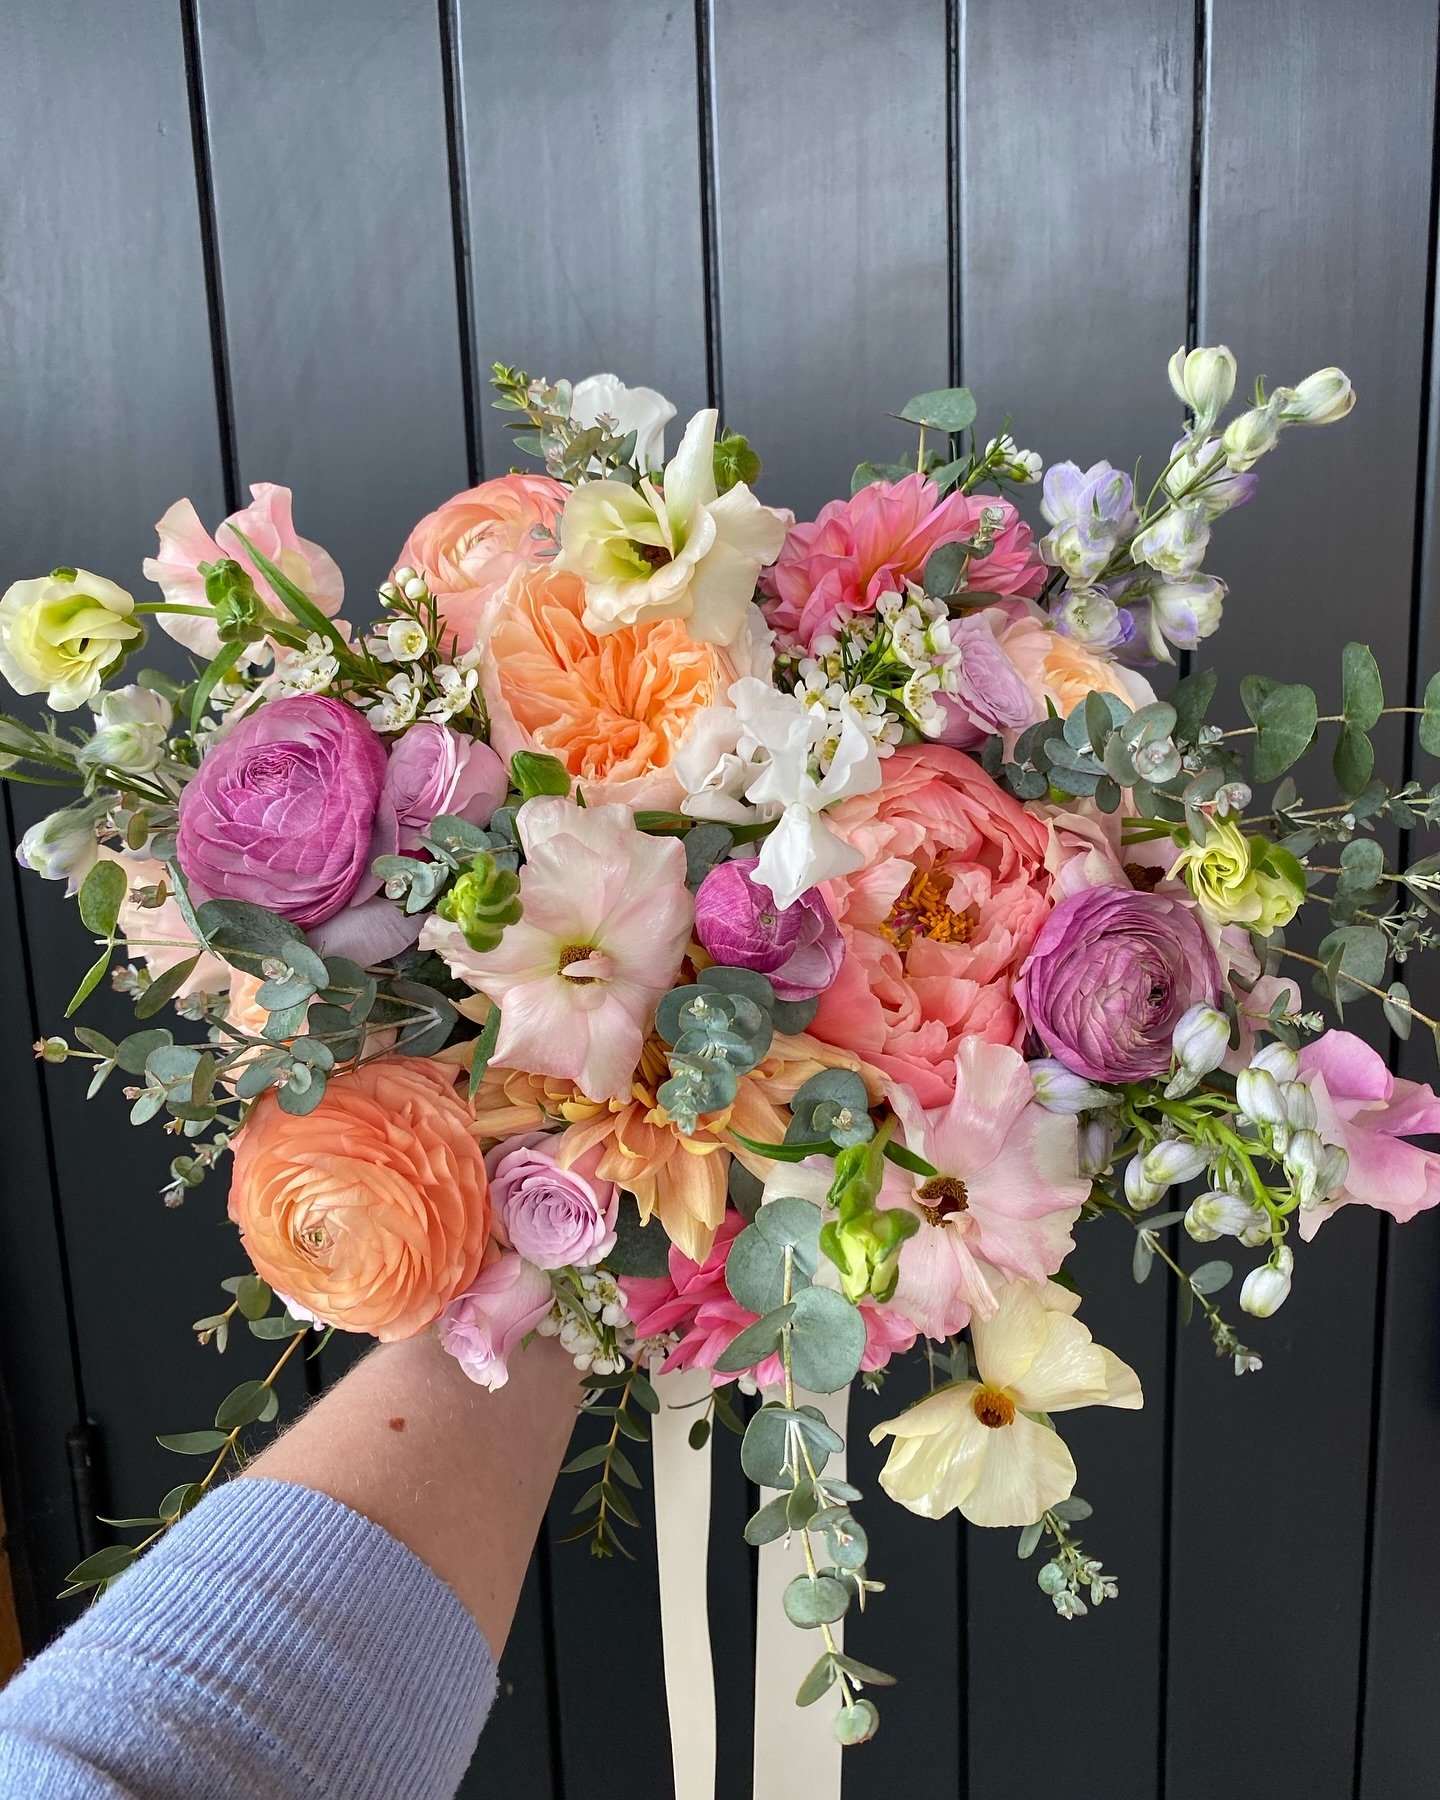
<svg viewBox="0 0 1440 1800">
<path fill-rule="evenodd" d="M 718 403 L 808 517 L 956 376 L 1046 457 L 1156 466 L 1166 356 L 1226 340 L 1274 380 L 1339 362 L 1361 405 L 1224 522 L 1210 659 L 1327 684 L 1364 635 L 1413 688 L 1440 661 L 1436 23 L 1436 0 L 9 0 L 0 581 L 65 558 L 137 585 L 173 499 L 216 520 L 268 479 L 364 592 L 506 466 L 493 358 Z M 40 808 L 5 806 L 14 841 Z M 189 1341 L 236 1267 L 218 1195 L 164 1211 L 158 1134 L 31 1057 L 85 961 L 70 909 L 0 871 L 0 1478 L 31 1647 L 90 1514 L 175 1480 L 151 1433 L 259 1355 L 221 1372 Z M 1130 1285 L 1123 1231 L 1091 1237 L 1087 1318 L 1147 1386 L 1138 1418 L 1067 1431 L 1121 1600 L 1060 1624 L 1013 1534 L 873 1503 L 889 1591 L 855 1643 L 904 1681 L 848 1800 L 896 1769 L 934 1800 L 1429 1793 L 1440 1220 L 1328 1226 L 1244 1384 Z M 466 1791 L 662 1796 L 653 1559 L 560 1546 L 569 1505 Z M 727 1467 L 727 1796 L 745 1507 Z"/>
</svg>

